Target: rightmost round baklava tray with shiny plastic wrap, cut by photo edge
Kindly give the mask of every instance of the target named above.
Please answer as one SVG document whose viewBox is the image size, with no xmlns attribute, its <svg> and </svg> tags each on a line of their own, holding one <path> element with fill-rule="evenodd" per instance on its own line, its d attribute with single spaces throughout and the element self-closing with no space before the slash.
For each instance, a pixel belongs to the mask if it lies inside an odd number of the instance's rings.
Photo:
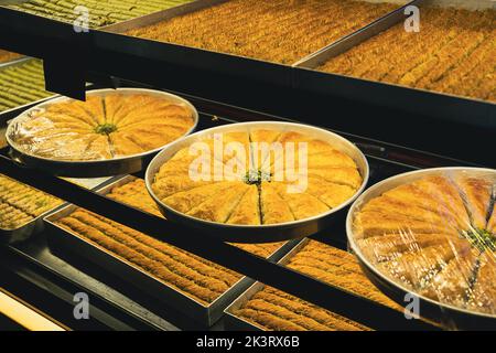
<svg viewBox="0 0 496 353">
<path fill-rule="evenodd" d="M 411 313 L 449 329 L 494 329 L 495 192 L 494 169 L 389 178 L 349 208 L 349 247 L 369 279 Z"/>
</svg>

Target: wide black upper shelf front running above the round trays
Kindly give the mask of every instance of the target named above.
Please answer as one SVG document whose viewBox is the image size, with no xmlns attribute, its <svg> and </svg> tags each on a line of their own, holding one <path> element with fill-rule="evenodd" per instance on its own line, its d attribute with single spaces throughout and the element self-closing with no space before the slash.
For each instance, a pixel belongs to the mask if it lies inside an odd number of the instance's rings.
<svg viewBox="0 0 496 353">
<path fill-rule="evenodd" d="M 343 41 L 402 17 L 399 9 Z M 484 147 L 496 133 L 490 103 L 103 30 L 76 33 L 71 24 L 7 8 L 0 8 L 0 46 L 44 58 L 47 88 L 73 97 L 84 98 L 85 81 L 112 85 L 119 77 L 495 165 Z"/>
</svg>

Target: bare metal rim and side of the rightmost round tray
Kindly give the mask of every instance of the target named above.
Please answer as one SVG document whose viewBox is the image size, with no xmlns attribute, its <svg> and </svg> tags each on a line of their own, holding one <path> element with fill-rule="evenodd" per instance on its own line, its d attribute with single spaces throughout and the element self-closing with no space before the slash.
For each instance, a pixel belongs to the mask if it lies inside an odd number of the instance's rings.
<svg viewBox="0 0 496 353">
<path fill-rule="evenodd" d="M 474 176 L 490 175 L 492 178 L 494 176 L 496 179 L 496 170 L 494 169 L 464 167 L 424 169 L 386 179 L 367 189 L 362 195 L 356 199 L 356 201 L 349 208 L 346 218 L 348 247 L 358 258 L 358 261 L 365 275 L 370 279 L 370 281 L 400 306 L 406 307 L 407 304 L 409 304 L 409 301 L 406 301 L 406 296 L 412 293 L 414 295 L 414 297 L 419 298 L 420 315 L 422 318 L 440 323 L 446 329 L 496 329 L 496 315 L 475 312 L 442 303 L 412 292 L 400 282 L 396 282 L 395 280 L 376 269 L 376 267 L 364 256 L 360 247 L 355 243 L 353 220 L 355 213 L 359 211 L 362 205 L 366 204 L 371 199 L 380 196 L 381 194 L 393 188 L 413 182 L 418 179 L 435 174 L 450 175 L 451 173 L 457 172 L 466 172 L 468 175 Z"/>
</svg>

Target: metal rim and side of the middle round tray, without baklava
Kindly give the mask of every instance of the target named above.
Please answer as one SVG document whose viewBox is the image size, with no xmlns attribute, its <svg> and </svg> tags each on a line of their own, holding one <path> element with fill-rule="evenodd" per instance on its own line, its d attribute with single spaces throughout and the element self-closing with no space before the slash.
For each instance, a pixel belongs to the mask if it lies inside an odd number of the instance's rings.
<svg viewBox="0 0 496 353">
<path fill-rule="evenodd" d="M 163 202 L 161 202 L 159 197 L 157 197 L 157 195 L 153 193 L 151 185 L 160 167 L 162 167 L 182 148 L 185 148 L 195 141 L 200 141 L 213 133 L 248 131 L 248 129 L 251 128 L 278 129 L 281 131 L 295 130 L 298 132 L 312 136 L 313 138 L 321 139 L 333 145 L 333 147 L 341 150 L 342 152 L 345 152 L 356 162 L 363 178 L 360 188 L 353 195 L 353 197 L 341 204 L 338 207 L 335 207 L 326 213 L 322 213 L 311 218 L 301 221 L 257 226 L 228 225 L 195 218 L 169 207 Z M 224 242 L 255 244 L 303 238 L 328 227 L 328 225 L 336 218 L 336 216 L 339 213 L 345 213 L 345 208 L 364 191 L 368 182 L 368 162 L 362 151 L 354 143 L 334 132 L 301 124 L 257 121 L 233 124 L 203 130 L 170 145 L 162 152 L 160 152 L 148 167 L 145 182 L 148 192 L 168 220 L 184 224 L 202 232 L 206 232 L 209 235 L 215 236 Z"/>
</svg>

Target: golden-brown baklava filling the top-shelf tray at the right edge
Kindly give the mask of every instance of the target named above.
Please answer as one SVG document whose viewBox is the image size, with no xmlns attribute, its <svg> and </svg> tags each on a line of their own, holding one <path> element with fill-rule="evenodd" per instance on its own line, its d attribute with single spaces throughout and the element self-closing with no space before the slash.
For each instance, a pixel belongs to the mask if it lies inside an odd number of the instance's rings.
<svg viewBox="0 0 496 353">
<path fill-rule="evenodd" d="M 331 58 L 319 69 L 496 100 L 496 10 L 421 8 L 420 31 L 403 22 Z"/>
</svg>

